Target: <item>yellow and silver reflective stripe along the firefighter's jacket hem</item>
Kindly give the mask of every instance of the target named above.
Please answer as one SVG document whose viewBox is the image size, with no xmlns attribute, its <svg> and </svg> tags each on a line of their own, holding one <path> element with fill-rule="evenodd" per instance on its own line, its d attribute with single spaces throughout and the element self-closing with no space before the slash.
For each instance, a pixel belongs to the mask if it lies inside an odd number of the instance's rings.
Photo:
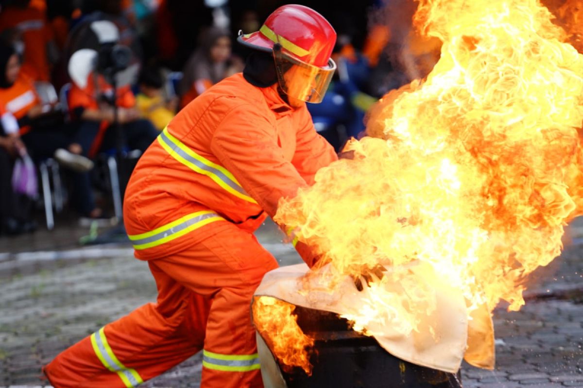
<svg viewBox="0 0 583 388">
<path fill-rule="evenodd" d="M 199 227 L 219 220 L 223 220 L 223 218 L 217 213 L 203 210 L 187 214 L 173 222 L 157 227 L 151 232 L 128 235 L 128 237 L 134 244 L 135 250 L 143 250 L 178 239 L 178 237 L 184 236 Z"/>
</svg>

